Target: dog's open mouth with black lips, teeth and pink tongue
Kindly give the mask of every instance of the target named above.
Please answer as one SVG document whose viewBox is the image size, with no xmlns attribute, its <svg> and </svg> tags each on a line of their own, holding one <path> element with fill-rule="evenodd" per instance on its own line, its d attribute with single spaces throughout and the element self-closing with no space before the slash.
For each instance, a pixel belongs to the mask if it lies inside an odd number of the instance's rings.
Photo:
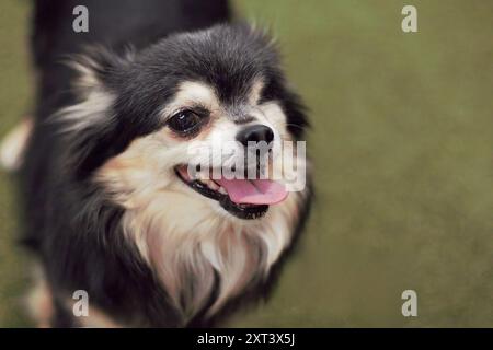
<svg viewBox="0 0 493 350">
<path fill-rule="evenodd" d="M 285 187 L 270 179 L 195 179 L 191 178 L 187 165 L 174 168 L 177 177 L 204 197 L 217 200 L 219 205 L 239 219 L 262 218 L 270 205 L 287 197 Z"/>
</svg>

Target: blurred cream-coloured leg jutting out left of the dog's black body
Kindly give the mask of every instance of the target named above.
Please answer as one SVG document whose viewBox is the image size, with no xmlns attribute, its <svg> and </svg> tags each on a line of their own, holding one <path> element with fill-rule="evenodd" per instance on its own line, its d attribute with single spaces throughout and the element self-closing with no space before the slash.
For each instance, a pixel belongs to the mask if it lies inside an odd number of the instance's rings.
<svg viewBox="0 0 493 350">
<path fill-rule="evenodd" d="M 0 166 L 7 171 L 18 171 L 24 160 L 24 150 L 31 137 L 33 119 L 27 117 L 19 124 L 0 145 Z"/>
</svg>

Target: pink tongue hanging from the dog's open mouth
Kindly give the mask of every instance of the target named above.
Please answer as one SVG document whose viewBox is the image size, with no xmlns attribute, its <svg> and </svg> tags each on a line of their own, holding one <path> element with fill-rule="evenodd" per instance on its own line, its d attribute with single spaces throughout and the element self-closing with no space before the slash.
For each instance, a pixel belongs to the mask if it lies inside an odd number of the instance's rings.
<svg viewBox="0 0 493 350">
<path fill-rule="evenodd" d="M 286 199 L 284 185 L 270 179 L 218 179 L 236 203 L 275 205 Z"/>
</svg>

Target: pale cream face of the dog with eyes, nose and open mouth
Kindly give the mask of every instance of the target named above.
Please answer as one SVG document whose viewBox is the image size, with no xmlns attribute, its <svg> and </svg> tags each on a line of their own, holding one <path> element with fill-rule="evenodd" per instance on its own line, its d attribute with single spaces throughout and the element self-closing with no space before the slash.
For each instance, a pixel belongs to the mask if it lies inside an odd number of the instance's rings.
<svg viewBox="0 0 493 350">
<path fill-rule="evenodd" d="M 291 137 L 279 104 L 261 102 L 262 79 L 244 82 L 244 95 L 230 103 L 221 102 L 216 89 L 206 82 L 177 83 L 173 97 L 158 112 L 158 117 L 163 119 L 162 127 L 135 140 L 125 152 L 107 162 L 99 176 L 113 185 L 125 183 L 128 186 L 125 192 L 142 186 L 145 189 L 165 186 L 183 194 L 192 201 L 182 206 L 186 208 L 184 221 L 190 220 L 191 206 L 197 203 L 203 207 L 200 212 L 210 211 L 211 215 L 226 220 L 254 220 L 265 215 L 270 205 L 277 205 L 288 192 L 282 178 L 272 180 L 265 174 L 261 179 L 259 173 L 252 173 L 260 168 L 261 160 L 253 160 L 256 154 L 249 151 L 248 142 L 265 143 L 268 159 L 265 158 L 263 167 L 270 166 L 272 174 L 272 167 L 282 168 L 282 156 L 274 154 L 274 144 Z M 222 175 L 227 171 L 230 179 Z M 234 178 L 237 174 L 241 178 Z M 124 182 L 122 176 L 126 177 Z M 119 188 L 116 191 L 122 192 Z"/>
</svg>

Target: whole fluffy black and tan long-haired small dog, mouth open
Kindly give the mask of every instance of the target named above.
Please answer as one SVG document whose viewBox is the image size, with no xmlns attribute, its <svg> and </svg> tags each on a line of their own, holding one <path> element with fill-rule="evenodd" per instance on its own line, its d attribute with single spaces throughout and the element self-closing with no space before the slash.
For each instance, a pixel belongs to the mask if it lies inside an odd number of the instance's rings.
<svg viewBox="0 0 493 350">
<path fill-rule="evenodd" d="M 87 33 L 72 30 L 81 4 Z M 213 326 L 267 295 L 312 192 L 298 153 L 303 188 L 260 178 L 280 164 L 273 147 L 308 127 L 270 36 L 222 0 L 38 0 L 33 23 L 36 106 L 2 160 L 41 262 L 38 325 Z M 234 147 L 216 167 L 246 174 L 249 142 L 268 144 L 268 162 L 255 159 L 253 179 L 193 177 L 213 167 L 191 150 L 217 140 Z"/>
</svg>

